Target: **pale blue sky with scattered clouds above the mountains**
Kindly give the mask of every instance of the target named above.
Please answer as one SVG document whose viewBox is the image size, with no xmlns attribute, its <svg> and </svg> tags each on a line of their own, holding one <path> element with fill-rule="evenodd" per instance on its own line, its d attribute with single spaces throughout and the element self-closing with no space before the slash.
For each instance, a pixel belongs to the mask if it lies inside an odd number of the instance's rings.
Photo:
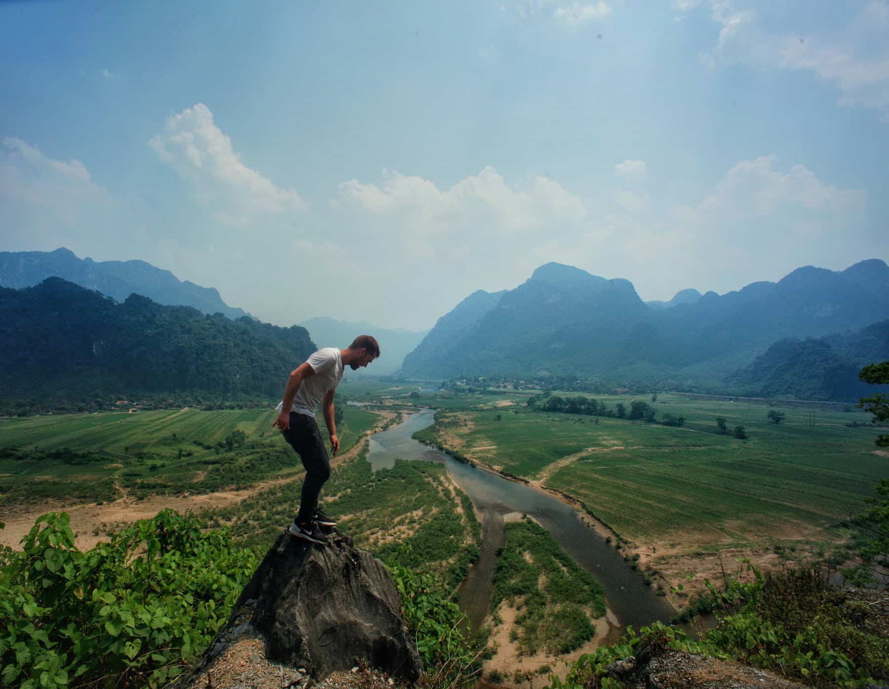
<svg viewBox="0 0 889 689">
<path fill-rule="evenodd" d="M 0 2 L 0 250 L 276 324 L 889 258 L 889 3 Z"/>
</svg>

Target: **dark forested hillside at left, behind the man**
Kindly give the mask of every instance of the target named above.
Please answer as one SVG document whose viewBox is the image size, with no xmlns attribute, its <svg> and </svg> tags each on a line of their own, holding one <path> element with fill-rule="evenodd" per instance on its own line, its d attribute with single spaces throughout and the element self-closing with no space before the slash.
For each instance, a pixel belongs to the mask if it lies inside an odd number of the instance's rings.
<svg viewBox="0 0 889 689">
<path fill-rule="evenodd" d="M 117 303 L 59 277 L 0 288 L 0 398 L 281 394 L 315 349 L 305 328 L 205 316 L 132 294 Z"/>
</svg>

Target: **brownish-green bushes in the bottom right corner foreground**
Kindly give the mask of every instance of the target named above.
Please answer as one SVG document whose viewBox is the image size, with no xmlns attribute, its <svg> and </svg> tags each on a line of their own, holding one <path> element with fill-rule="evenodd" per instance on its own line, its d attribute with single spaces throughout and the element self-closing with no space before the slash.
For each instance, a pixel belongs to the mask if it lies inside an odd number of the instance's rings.
<svg viewBox="0 0 889 689">
<path fill-rule="evenodd" d="M 889 678 L 889 639 L 861 624 L 868 605 L 847 602 L 817 570 L 764 575 L 753 565 L 752 581 L 733 579 L 718 591 L 707 582 L 709 604 L 719 624 L 695 641 L 660 622 L 628 633 L 617 644 L 581 656 L 565 681 L 551 676 L 551 689 L 607 689 L 613 661 L 636 655 L 654 641 L 689 653 L 733 659 L 770 669 L 811 686 L 864 687 Z M 656 637 L 656 638 L 655 638 Z"/>
</svg>

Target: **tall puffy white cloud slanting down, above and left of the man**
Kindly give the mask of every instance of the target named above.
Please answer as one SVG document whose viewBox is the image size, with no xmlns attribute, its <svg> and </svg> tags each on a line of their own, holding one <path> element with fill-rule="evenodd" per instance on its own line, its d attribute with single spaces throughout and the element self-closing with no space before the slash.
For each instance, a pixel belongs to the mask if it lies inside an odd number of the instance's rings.
<svg viewBox="0 0 889 689">
<path fill-rule="evenodd" d="M 148 143 L 190 182 L 198 202 L 215 209 L 214 218 L 220 222 L 244 226 L 264 215 L 307 208 L 295 189 L 279 187 L 241 162 L 203 103 L 169 117 L 164 133 Z"/>
</svg>

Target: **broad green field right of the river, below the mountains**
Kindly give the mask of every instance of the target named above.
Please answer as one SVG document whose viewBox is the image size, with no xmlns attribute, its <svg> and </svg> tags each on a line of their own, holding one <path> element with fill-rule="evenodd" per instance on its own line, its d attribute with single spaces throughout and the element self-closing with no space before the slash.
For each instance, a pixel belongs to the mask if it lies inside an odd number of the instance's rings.
<svg viewBox="0 0 889 689">
<path fill-rule="evenodd" d="M 573 396 L 574 393 L 563 393 Z M 589 396 L 597 397 L 597 396 Z M 702 542 L 745 544 L 805 537 L 860 512 L 887 459 L 874 452 L 878 430 L 859 412 L 688 400 L 677 395 L 597 397 L 613 408 L 634 400 L 683 416 L 682 428 L 642 421 L 530 412 L 524 406 L 437 415 L 438 440 L 477 461 L 586 502 L 624 538 L 663 540 L 696 533 Z M 729 429 L 719 433 L 716 418 Z M 733 437 L 737 425 L 748 439 Z M 567 455 L 580 458 L 557 470 Z M 545 470 L 546 469 L 546 470 Z M 542 473 L 541 473 L 542 472 Z"/>
</svg>

